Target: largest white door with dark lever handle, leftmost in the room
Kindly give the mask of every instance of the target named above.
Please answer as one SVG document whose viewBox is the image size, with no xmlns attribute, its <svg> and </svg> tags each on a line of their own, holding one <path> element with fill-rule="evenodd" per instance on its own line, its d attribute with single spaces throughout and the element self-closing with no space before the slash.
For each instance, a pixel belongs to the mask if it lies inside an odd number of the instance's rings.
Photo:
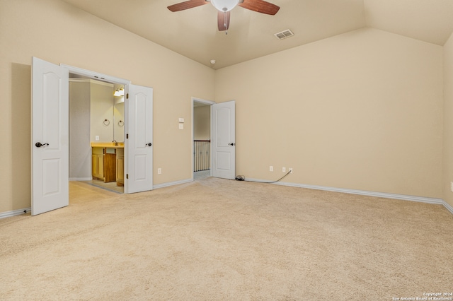
<svg viewBox="0 0 453 301">
<path fill-rule="evenodd" d="M 32 59 L 31 215 L 69 204 L 69 71 Z"/>
</svg>

